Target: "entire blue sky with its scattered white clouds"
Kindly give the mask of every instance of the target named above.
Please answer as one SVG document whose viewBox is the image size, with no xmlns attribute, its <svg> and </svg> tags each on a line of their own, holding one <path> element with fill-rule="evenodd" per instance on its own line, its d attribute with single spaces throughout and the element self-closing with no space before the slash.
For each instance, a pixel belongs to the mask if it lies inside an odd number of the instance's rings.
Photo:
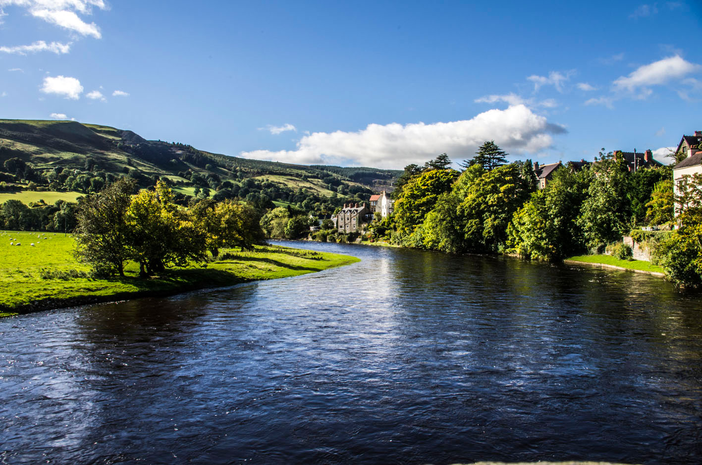
<svg viewBox="0 0 702 465">
<path fill-rule="evenodd" d="M 0 118 L 379 168 L 702 130 L 700 1 L 531 3 L 0 0 Z"/>
</svg>

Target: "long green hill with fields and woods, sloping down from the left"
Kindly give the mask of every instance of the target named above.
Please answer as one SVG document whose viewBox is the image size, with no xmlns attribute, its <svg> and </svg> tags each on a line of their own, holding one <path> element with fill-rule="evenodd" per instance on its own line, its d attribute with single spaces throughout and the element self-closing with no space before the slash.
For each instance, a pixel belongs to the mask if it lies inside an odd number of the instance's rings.
<svg viewBox="0 0 702 465">
<path fill-rule="evenodd" d="M 0 120 L 0 191 L 75 198 L 128 175 L 149 187 L 166 180 L 181 196 L 323 205 L 367 200 L 402 172 L 303 166 L 213 154 L 182 142 L 145 140 L 131 130 L 77 121 Z M 40 196 L 41 197 L 41 196 Z M 45 199 L 46 200 L 46 199 Z M 319 204 L 319 205 L 317 205 Z M 316 208 L 313 205 L 317 205 Z"/>
</svg>

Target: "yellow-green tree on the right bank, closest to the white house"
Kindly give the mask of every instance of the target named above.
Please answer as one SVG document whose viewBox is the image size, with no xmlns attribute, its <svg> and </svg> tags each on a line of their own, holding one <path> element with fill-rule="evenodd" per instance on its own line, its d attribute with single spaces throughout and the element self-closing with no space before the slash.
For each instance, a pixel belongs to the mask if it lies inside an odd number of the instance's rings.
<svg viewBox="0 0 702 465">
<path fill-rule="evenodd" d="M 413 177 L 395 202 L 397 231 L 401 235 L 412 234 L 434 208 L 441 194 L 451 191 L 451 184 L 458 177 L 455 170 L 429 170 Z"/>
</svg>

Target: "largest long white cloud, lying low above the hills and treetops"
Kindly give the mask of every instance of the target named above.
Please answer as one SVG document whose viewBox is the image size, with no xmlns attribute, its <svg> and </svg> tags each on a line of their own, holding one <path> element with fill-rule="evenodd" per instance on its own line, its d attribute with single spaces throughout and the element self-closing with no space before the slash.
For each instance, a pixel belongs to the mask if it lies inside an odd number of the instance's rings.
<svg viewBox="0 0 702 465">
<path fill-rule="evenodd" d="M 240 155 L 291 163 L 402 168 L 424 163 L 444 151 L 456 161 L 470 158 L 486 140 L 495 140 L 510 154 L 535 153 L 551 147 L 553 134 L 565 132 L 525 105 L 514 105 L 449 123 L 369 124 L 355 133 L 312 133 L 303 136 L 295 150 L 254 150 Z"/>
</svg>

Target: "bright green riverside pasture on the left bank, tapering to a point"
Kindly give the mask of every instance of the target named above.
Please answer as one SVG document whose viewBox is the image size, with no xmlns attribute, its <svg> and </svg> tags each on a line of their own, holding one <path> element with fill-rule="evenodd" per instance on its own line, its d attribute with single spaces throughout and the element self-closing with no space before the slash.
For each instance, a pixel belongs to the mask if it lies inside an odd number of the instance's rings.
<svg viewBox="0 0 702 465">
<path fill-rule="evenodd" d="M 12 240 L 11 240 L 12 239 Z M 20 242 L 21 245 L 10 245 Z M 34 246 L 30 245 L 34 243 Z M 222 250 L 225 260 L 138 278 L 129 264 L 125 278 L 90 278 L 72 257 L 74 239 L 62 234 L 0 232 L 0 314 L 147 295 L 173 295 L 262 279 L 286 278 L 358 262 L 356 257 L 273 245 L 252 252 Z M 225 255 L 226 254 L 226 255 Z"/>
</svg>

